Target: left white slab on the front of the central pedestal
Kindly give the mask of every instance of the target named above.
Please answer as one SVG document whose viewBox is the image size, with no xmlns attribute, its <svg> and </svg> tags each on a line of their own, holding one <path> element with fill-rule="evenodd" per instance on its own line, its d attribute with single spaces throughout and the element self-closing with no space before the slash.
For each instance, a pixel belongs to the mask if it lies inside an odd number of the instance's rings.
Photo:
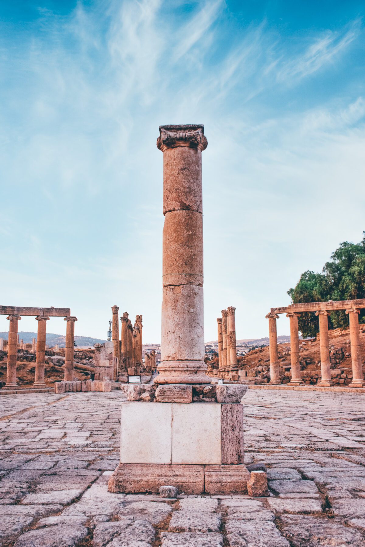
<svg viewBox="0 0 365 547">
<path fill-rule="evenodd" d="M 171 463 L 171 420 L 171 403 L 123 403 L 120 462 Z"/>
</svg>

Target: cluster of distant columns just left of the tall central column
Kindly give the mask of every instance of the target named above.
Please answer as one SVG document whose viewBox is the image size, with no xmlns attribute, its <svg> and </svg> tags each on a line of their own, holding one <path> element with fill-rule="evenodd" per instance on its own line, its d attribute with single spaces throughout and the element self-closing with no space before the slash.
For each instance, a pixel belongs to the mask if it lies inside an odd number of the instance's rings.
<svg viewBox="0 0 365 547">
<path fill-rule="evenodd" d="M 137 315 L 135 324 L 132 325 L 129 314 L 123 313 L 123 316 L 120 317 L 121 336 L 119 340 L 118 311 L 118 306 L 112 306 L 113 357 L 117 366 L 115 377 L 121 370 L 127 370 L 128 374 L 139 374 L 142 366 L 142 316 Z"/>
</svg>

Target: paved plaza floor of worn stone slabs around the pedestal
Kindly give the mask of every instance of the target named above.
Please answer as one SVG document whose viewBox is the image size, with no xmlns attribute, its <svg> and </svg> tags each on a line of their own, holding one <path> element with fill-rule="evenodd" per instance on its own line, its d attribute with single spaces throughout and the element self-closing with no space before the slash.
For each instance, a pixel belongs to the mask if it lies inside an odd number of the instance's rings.
<svg viewBox="0 0 365 547">
<path fill-rule="evenodd" d="M 270 488 L 257 499 L 108 493 L 123 399 L 1 397 L 1 545 L 365 545 L 365 395 L 250 389 L 246 464 L 264 462 Z"/>
</svg>

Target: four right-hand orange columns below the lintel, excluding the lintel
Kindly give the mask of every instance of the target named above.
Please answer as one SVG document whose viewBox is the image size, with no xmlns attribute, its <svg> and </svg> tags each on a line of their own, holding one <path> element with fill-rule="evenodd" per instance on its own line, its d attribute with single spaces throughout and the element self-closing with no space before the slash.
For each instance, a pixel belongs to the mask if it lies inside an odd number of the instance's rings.
<svg viewBox="0 0 365 547">
<path fill-rule="evenodd" d="M 361 361 L 361 343 L 360 332 L 358 329 L 358 314 L 360 310 L 351 308 L 346 310 L 350 322 L 350 342 L 351 342 L 351 364 L 352 364 L 352 382 L 349 387 L 362 387 L 365 385 L 362 373 Z M 326 310 L 316 312 L 320 329 L 320 355 L 321 355 L 321 380 L 318 385 L 323 387 L 333 386 L 331 379 L 331 359 L 329 357 L 329 338 L 328 338 L 328 315 Z M 301 386 L 303 381 L 300 374 L 299 361 L 299 330 L 298 317 L 300 313 L 287 313 L 290 321 L 290 360 L 292 379 L 289 386 Z M 279 359 L 277 357 L 277 334 L 276 319 L 279 316 L 276 313 L 268 313 L 266 319 L 269 319 L 269 352 L 270 352 L 270 383 L 281 383 L 279 374 Z"/>
</svg>

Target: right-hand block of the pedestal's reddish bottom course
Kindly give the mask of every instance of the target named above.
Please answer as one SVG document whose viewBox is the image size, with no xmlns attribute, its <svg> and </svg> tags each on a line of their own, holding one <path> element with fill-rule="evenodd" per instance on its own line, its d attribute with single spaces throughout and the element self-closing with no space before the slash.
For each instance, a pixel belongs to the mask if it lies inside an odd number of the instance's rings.
<svg viewBox="0 0 365 547">
<path fill-rule="evenodd" d="M 208 494 L 247 494 L 251 475 L 245 465 L 205 465 L 204 473 Z"/>
</svg>

